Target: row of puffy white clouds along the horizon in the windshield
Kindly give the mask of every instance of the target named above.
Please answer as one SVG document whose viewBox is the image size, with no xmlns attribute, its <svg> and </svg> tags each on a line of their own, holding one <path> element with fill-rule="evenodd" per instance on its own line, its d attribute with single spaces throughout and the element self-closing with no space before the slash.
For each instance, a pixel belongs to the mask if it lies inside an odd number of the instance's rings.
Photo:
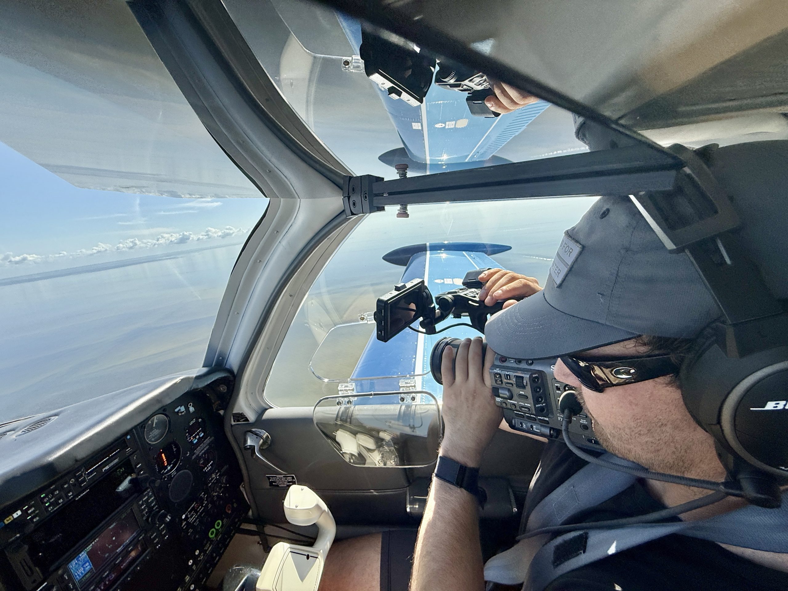
<svg viewBox="0 0 788 591">
<path fill-rule="evenodd" d="M 78 251 L 61 251 L 57 255 L 13 255 L 6 252 L 0 255 L 0 266 L 21 265 L 24 263 L 36 263 L 54 261 L 57 258 L 80 258 L 92 255 L 100 255 L 106 252 L 140 251 L 146 248 L 172 246 L 174 244 L 188 244 L 192 242 L 203 242 L 204 240 L 219 240 L 242 236 L 246 231 L 240 228 L 233 228 L 231 225 L 222 229 L 206 228 L 203 232 L 162 232 L 155 238 L 127 238 L 117 244 L 107 244 L 99 242 L 92 248 L 80 248 Z"/>
</svg>

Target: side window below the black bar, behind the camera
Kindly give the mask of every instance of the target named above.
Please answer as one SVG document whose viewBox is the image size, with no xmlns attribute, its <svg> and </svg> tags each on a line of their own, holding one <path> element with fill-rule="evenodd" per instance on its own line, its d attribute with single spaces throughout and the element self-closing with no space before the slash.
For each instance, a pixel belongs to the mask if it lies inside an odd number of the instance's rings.
<svg viewBox="0 0 788 591">
<path fill-rule="evenodd" d="M 459 287 L 472 269 L 499 266 L 541 285 L 563 236 L 593 197 L 411 206 L 370 214 L 315 281 L 281 346 L 263 392 L 274 406 L 312 406 L 342 392 L 424 389 L 440 397 L 427 361 L 441 336 L 476 336 L 458 327 L 438 335 L 406 330 L 375 337 L 379 296 L 400 281 L 426 279 L 433 296 Z M 464 320 L 448 319 L 438 328 Z M 418 324 L 415 325 L 418 328 Z M 378 379 L 373 379 L 378 378 Z"/>
</svg>

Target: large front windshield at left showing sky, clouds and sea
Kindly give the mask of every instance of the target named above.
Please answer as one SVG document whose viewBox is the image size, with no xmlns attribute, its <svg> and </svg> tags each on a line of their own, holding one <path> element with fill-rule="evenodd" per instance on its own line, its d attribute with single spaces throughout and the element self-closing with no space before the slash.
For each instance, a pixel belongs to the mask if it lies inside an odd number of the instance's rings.
<svg viewBox="0 0 788 591">
<path fill-rule="evenodd" d="M 203 365 L 267 199 L 123 2 L 6 5 L 0 179 L 0 423 Z"/>
</svg>

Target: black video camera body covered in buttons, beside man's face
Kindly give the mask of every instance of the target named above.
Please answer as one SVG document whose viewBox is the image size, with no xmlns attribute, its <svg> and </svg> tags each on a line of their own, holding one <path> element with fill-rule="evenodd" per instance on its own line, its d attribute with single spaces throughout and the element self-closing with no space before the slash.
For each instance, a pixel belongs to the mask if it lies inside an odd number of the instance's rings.
<svg viewBox="0 0 788 591">
<path fill-rule="evenodd" d="M 556 380 L 553 370 L 557 359 L 511 359 L 496 355 L 490 367 L 492 396 L 504 411 L 507 424 L 515 431 L 546 439 L 562 439 L 563 417 L 558 401 L 574 386 Z M 591 418 L 578 414 L 569 425 L 575 445 L 603 452 L 593 432 Z"/>
</svg>

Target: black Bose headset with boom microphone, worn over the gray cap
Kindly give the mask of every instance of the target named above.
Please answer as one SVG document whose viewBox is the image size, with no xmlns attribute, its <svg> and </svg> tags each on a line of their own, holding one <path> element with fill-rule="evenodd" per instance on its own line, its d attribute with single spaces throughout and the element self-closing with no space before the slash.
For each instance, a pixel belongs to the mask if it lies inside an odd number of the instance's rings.
<svg viewBox="0 0 788 591">
<path fill-rule="evenodd" d="M 768 144 L 769 154 L 783 154 L 782 159 L 788 161 L 788 141 Z M 667 513 L 679 515 L 726 495 L 742 496 L 760 507 L 779 507 L 779 486 L 788 483 L 788 314 L 769 292 L 734 233 L 740 225 L 738 214 L 704 162 L 713 162 L 717 149 L 716 144 L 698 151 L 671 146 L 685 164 L 675 190 L 644 192 L 630 198 L 669 251 L 689 255 L 723 312 L 721 320 L 702 331 L 697 346 L 682 362 L 679 382 L 689 413 L 715 438 L 719 459 L 730 480 L 713 482 L 662 474 L 589 455 L 568 437 L 572 415 L 582 412 L 582 407 L 573 392 L 565 392 L 559 400 L 564 440 L 582 459 L 641 478 L 716 491 L 661 511 L 660 515 L 634 519 L 637 522 L 662 519 Z M 753 155 L 757 158 L 752 150 L 753 144 L 723 148 L 737 162 Z M 757 159 L 746 175 L 737 174 L 734 184 L 739 186 L 728 187 L 731 194 L 763 190 L 757 186 L 756 177 L 763 164 L 763 159 Z M 740 169 L 736 167 L 735 172 Z M 768 195 L 770 191 L 767 188 L 764 192 Z"/>
</svg>

